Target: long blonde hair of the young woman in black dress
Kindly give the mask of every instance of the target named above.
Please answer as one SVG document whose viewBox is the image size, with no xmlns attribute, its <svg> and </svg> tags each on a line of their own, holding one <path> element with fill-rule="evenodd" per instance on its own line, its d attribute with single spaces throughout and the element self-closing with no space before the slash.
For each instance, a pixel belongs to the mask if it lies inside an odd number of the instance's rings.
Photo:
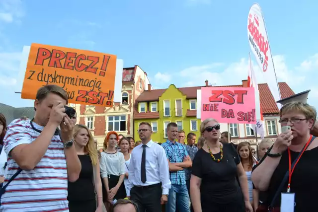
<svg viewBox="0 0 318 212">
<path fill-rule="evenodd" d="M 93 136 L 91 135 L 88 128 L 85 125 L 75 125 L 74 129 L 73 129 L 73 138 L 75 139 L 75 137 L 79 134 L 79 130 L 81 130 L 81 129 L 85 129 L 87 131 L 88 137 L 89 137 L 88 142 L 84 147 L 85 152 L 87 152 L 89 154 L 89 157 L 91 159 L 91 163 L 93 165 L 97 165 L 98 153 L 97 153 L 96 148 L 95 148 Z"/>
</svg>

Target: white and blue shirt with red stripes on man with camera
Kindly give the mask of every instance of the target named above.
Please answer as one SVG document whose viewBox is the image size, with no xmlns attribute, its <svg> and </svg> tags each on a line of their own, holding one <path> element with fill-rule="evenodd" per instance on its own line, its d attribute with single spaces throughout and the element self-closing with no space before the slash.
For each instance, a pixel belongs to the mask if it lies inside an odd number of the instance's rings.
<svg viewBox="0 0 318 212">
<path fill-rule="evenodd" d="M 34 128 L 42 131 L 33 123 Z M 29 144 L 40 133 L 32 129 L 30 121 L 13 120 L 4 137 L 8 154 L 4 185 L 18 170 L 10 151 L 17 145 Z M 1 197 L 1 212 L 69 212 L 68 176 L 64 145 L 59 136 L 53 136 L 45 155 L 33 170 L 23 170 L 6 188 Z"/>
</svg>

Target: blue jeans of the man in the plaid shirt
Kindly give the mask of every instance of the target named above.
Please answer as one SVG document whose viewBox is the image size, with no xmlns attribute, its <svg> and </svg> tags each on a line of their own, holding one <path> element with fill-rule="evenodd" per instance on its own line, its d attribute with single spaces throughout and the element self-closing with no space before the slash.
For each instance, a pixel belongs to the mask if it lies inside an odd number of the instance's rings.
<svg viewBox="0 0 318 212">
<path fill-rule="evenodd" d="M 176 204 L 178 204 L 178 210 L 180 212 L 190 212 L 189 194 L 186 185 L 171 185 L 165 212 L 175 212 Z"/>
</svg>

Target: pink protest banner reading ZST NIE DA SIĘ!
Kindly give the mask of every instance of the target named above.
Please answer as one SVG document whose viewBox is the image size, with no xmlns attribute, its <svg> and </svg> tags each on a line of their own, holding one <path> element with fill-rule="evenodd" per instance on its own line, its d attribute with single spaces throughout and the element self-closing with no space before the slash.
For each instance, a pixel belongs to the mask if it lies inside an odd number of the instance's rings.
<svg viewBox="0 0 318 212">
<path fill-rule="evenodd" d="M 201 120 L 220 123 L 255 124 L 253 87 L 202 87 Z"/>
</svg>

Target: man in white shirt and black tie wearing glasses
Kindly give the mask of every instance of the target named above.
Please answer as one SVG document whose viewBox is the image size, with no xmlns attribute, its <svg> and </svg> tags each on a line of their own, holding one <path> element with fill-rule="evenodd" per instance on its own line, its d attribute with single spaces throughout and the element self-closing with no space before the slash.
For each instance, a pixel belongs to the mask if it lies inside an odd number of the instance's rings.
<svg viewBox="0 0 318 212">
<path fill-rule="evenodd" d="M 138 133 L 142 143 L 131 153 L 127 198 L 137 203 L 140 212 L 161 212 L 171 188 L 166 154 L 151 140 L 153 131 L 149 123 L 140 123 Z"/>
</svg>

